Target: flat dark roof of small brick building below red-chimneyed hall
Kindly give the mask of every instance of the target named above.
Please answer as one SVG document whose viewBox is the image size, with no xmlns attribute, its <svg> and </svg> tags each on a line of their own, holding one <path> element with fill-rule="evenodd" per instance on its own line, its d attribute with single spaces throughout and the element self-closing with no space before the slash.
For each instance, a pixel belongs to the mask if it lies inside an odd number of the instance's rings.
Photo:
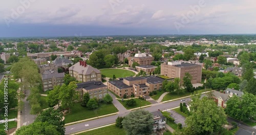
<svg viewBox="0 0 256 135">
<path fill-rule="evenodd" d="M 82 82 L 82 83 L 77 83 L 76 85 L 77 85 L 77 88 L 84 88 L 88 91 L 91 90 L 91 89 L 107 87 L 101 81 Z"/>
</svg>

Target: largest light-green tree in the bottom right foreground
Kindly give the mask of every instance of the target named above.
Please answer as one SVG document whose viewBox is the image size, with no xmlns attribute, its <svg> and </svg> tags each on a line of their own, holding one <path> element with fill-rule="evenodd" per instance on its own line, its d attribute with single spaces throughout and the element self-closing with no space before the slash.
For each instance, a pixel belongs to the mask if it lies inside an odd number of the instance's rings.
<svg viewBox="0 0 256 135">
<path fill-rule="evenodd" d="M 193 97 L 191 115 L 185 120 L 187 128 L 195 129 L 196 134 L 216 134 L 227 123 L 225 112 L 215 101 L 200 97 Z"/>
</svg>

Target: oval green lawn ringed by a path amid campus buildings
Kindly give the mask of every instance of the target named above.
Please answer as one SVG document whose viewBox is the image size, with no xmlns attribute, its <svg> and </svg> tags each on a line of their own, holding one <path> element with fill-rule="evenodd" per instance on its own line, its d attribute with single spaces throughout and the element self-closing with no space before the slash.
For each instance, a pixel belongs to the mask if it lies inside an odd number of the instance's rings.
<svg viewBox="0 0 256 135">
<path fill-rule="evenodd" d="M 116 76 L 116 78 L 120 77 L 130 77 L 134 76 L 135 73 L 128 70 L 122 70 L 122 69 L 103 69 L 100 70 L 102 75 L 105 75 L 106 77 L 112 78 L 113 75 Z"/>
</svg>

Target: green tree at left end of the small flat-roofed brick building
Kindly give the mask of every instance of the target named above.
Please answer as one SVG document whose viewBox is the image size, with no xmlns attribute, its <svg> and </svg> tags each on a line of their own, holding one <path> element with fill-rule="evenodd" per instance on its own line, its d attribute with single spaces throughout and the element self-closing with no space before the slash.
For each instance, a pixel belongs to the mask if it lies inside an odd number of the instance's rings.
<svg viewBox="0 0 256 135">
<path fill-rule="evenodd" d="M 61 100 L 61 106 L 69 108 L 75 104 L 78 100 L 78 93 L 76 91 L 76 82 L 70 82 L 69 85 L 62 84 L 60 87 L 59 99 Z"/>
</svg>

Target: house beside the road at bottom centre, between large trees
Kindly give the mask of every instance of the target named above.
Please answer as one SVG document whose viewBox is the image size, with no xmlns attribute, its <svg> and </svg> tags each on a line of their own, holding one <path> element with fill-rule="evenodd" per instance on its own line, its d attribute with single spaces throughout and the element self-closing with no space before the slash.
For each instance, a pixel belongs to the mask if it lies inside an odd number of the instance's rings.
<svg viewBox="0 0 256 135">
<path fill-rule="evenodd" d="M 166 118 L 163 117 L 161 111 L 154 111 L 151 114 L 153 115 L 154 119 L 153 132 L 165 129 Z"/>
</svg>

